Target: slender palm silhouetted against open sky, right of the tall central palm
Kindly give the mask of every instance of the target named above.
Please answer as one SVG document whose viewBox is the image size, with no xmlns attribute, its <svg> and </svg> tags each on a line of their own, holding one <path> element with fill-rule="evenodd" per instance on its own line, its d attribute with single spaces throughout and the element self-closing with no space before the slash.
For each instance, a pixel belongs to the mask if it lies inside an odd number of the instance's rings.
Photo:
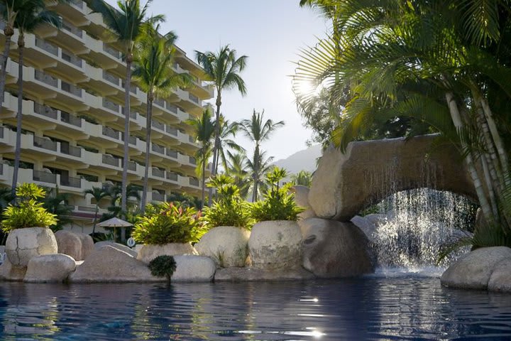
<svg viewBox="0 0 511 341">
<path fill-rule="evenodd" d="M 284 121 L 278 121 L 273 123 L 271 119 L 267 119 L 263 123 L 264 110 L 263 112 L 255 112 L 253 110 L 251 119 L 243 119 L 240 124 L 240 129 L 245 133 L 248 139 L 255 144 L 253 159 L 251 161 L 252 178 L 253 178 L 253 193 L 252 201 L 257 201 L 258 197 L 258 185 L 263 175 L 263 152 L 260 151 L 260 144 L 270 139 L 271 134 L 275 129 L 284 125 Z"/>
</svg>

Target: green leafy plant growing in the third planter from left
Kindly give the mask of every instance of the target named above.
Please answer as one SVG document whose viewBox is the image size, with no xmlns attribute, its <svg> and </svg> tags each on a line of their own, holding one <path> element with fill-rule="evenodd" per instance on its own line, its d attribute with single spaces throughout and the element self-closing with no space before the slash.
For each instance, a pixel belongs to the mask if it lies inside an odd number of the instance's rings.
<svg viewBox="0 0 511 341">
<path fill-rule="evenodd" d="M 250 229 L 253 221 L 250 214 L 250 204 L 240 196 L 238 186 L 228 175 L 216 175 L 208 185 L 216 188 L 218 199 L 211 207 L 204 207 L 202 220 L 207 228 L 219 226 L 237 226 Z"/>
</svg>

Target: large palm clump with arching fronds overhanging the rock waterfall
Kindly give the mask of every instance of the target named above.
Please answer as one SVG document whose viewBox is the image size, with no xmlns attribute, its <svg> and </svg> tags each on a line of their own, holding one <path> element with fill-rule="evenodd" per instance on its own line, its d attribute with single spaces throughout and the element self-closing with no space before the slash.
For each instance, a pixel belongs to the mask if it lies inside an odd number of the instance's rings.
<svg viewBox="0 0 511 341">
<path fill-rule="evenodd" d="M 295 82 L 326 86 L 333 102 L 352 85 L 336 144 L 345 148 L 375 118 L 426 121 L 458 146 L 488 226 L 508 235 L 511 1 L 306 2 L 334 6 L 336 31 L 343 32 L 305 51 L 295 75 Z M 471 242 L 506 240 L 476 231 Z"/>
</svg>

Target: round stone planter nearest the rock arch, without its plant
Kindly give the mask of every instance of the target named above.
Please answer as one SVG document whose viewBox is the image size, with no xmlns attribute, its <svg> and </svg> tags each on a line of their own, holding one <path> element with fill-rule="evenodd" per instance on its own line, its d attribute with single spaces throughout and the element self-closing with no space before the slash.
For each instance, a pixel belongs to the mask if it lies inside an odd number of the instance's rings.
<svg viewBox="0 0 511 341">
<path fill-rule="evenodd" d="M 248 239 L 248 254 L 255 269 L 295 269 L 300 267 L 302 232 L 297 222 L 258 222 Z"/>
</svg>

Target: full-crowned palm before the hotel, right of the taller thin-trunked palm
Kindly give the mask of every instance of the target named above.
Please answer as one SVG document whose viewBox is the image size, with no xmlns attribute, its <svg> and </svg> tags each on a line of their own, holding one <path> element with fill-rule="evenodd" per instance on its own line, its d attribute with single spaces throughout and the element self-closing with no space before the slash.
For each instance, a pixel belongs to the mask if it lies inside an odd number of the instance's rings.
<svg viewBox="0 0 511 341">
<path fill-rule="evenodd" d="M 172 70 L 174 62 L 174 43 L 177 36 L 170 31 L 165 36 L 158 33 L 159 25 L 145 24 L 145 35 L 138 44 L 135 54 L 135 69 L 133 77 L 138 85 L 147 93 L 147 124 L 145 125 L 145 173 L 143 180 L 143 193 L 141 211 L 145 210 L 148 192 L 148 174 L 150 168 L 150 134 L 153 120 L 153 101 L 155 97 L 165 97 L 177 87 L 184 87 L 191 82 L 187 73 L 176 73 Z"/>
</svg>

